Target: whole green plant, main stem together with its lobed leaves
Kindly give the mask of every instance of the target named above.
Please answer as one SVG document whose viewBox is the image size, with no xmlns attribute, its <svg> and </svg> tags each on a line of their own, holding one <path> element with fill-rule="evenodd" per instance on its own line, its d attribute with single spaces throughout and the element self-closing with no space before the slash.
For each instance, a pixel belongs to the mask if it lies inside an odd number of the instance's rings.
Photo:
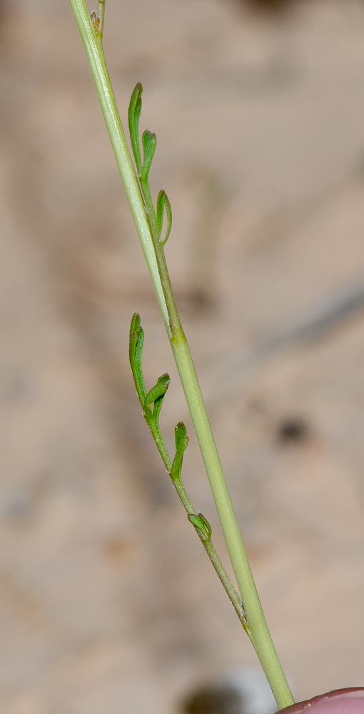
<svg viewBox="0 0 364 714">
<path fill-rule="evenodd" d="M 183 425 L 181 426 L 180 424 L 176 427 L 176 453 L 173 460 L 163 441 L 159 428 L 159 415 L 163 398 L 168 388 L 169 378 L 167 375 L 163 375 L 150 391 L 146 391 L 141 368 L 143 330 L 139 316 L 135 315 L 131 323 L 130 356 L 136 391 L 143 408 L 143 415 L 151 429 L 158 451 L 173 480 L 178 496 L 180 496 L 183 506 L 186 508 L 188 518 L 193 524 L 196 533 L 198 533 L 201 543 L 216 568 L 216 572 L 238 613 L 239 619 L 251 638 L 251 642 L 261 661 L 268 682 L 271 685 L 278 708 L 281 709 L 293 704 L 293 697 L 275 651 L 266 618 L 264 617 L 258 598 L 256 585 L 248 563 L 243 540 L 241 539 L 233 504 L 231 503 L 231 496 L 213 438 L 211 424 L 208 420 L 201 388 L 193 366 L 191 352 L 181 326 L 176 301 L 173 296 L 171 280 L 169 278 L 163 250 L 171 232 L 171 204 L 168 201 L 166 193 L 161 191 L 156 201 L 156 208 L 154 208 L 153 205 L 148 176 L 156 151 L 156 136 L 148 130 L 144 131 L 142 136 L 143 162 L 141 159 L 139 120 L 141 117 L 141 94 L 143 89 L 141 84 L 136 85 L 131 96 L 128 112 L 131 148 L 133 150 L 135 168 L 131 160 L 128 144 L 126 143 L 126 137 L 118 114 L 115 96 L 113 94 L 110 77 L 108 76 L 106 60 L 103 54 L 102 33 L 105 0 L 99 1 L 97 14 L 93 13 L 91 16 L 85 0 L 69 1 L 74 12 L 77 26 L 79 27 L 81 39 L 84 43 L 98 99 L 103 111 L 111 145 L 113 146 L 116 164 L 121 175 L 121 180 L 123 181 L 138 238 L 141 242 L 143 255 L 146 259 L 146 265 L 148 266 L 178 373 L 181 378 L 183 391 L 186 396 L 188 409 L 191 413 L 193 427 L 196 431 L 198 445 L 201 449 L 203 463 L 210 482 L 240 595 L 238 595 L 233 587 L 225 568 L 223 568 L 221 560 L 218 558 L 215 548 L 213 548 L 211 543 L 211 529 L 206 518 L 201 516 L 201 513 L 195 511 L 188 498 L 186 489 L 183 486 L 181 470 L 183 453 L 186 451 L 188 443 L 186 430 Z M 162 238 L 165 216 L 167 219 L 167 228 Z"/>
</svg>

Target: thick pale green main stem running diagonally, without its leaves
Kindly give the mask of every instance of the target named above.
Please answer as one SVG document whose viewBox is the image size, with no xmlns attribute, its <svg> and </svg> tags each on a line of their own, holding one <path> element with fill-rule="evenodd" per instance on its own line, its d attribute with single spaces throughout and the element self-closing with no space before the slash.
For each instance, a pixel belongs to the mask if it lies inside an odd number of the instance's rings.
<svg viewBox="0 0 364 714">
<path fill-rule="evenodd" d="M 280 661 L 278 660 L 278 655 L 275 652 L 271 634 L 269 633 L 258 598 L 251 568 L 248 563 L 246 550 L 241 540 L 241 534 L 223 475 L 221 461 L 211 431 L 206 407 L 203 403 L 203 397 L 193 366 L 191 353 L 178 317 L 164 258 L 163 246 L 158 243 L 156 236 L 153 235 L 153 223 L 155 221 L 151 221 L 151 216 L 148 216 L 146 213 L 138 178 L 128 151 L 125 134 L 113 96 L 111 81 L 108 76 L 101 34 L 97 31 L 91 20 L 85 1 L 70 0 L 70 3 L 89 59 L 93 81 L 96 85 L 98 99 L 106 121 L 116 163 L 136 225 L 136 231 L 141 241 L 148 271 L 156 291 L 158 304 L 161 308 L 163 321 L 171 342 L 171 348 L 176 360 L 183 390 L 186 394 L 188 408 L 191 413 L 193 426 L 196 430 L 196 436 L 203 456 L 203 462 L 211 484 L 213 498 L 226 539 L 231 563 L 236 574 L 241 597 L 243 598 L 251 640 L 258 654 L 258 658 L 261 660 L 261 665 L 271 685 L 278 707 L 283 708 L 293 703 L 293 697 L 290 693 Z"/>
</svg>

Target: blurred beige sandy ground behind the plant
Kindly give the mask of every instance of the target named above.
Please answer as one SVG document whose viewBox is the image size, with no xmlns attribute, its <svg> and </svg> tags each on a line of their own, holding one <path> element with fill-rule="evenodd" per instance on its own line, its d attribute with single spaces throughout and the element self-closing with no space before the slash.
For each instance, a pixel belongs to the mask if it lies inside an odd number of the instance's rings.
<svg viewBox="0 0 364 714">
<path fill-rule="evenodd" d="M 297 698 L 363 685 L 364 4 L 107 5 L 278 652 Z M 66 0 L 3 0 L 0 78 L 1 713 L 173 714 L 256 658 L 136 401 L 138 309 L 191 433 Z M 194 443 L 184 474 L 224 555 Z"/>
</svg>

